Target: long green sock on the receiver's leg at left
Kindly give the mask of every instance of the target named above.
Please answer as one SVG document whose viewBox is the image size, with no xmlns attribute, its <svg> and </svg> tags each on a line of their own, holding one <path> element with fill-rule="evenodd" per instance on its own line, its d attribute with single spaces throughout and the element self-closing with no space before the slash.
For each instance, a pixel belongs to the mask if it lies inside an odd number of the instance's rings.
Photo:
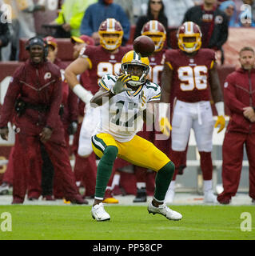
<svg viewBox="0 0 255 256">
<path fill-rule="evenodd" d="M 116 146 L 107 146 L 104 150 L 104 155 L 98 163 L 95 198 L 104 198 L 117 154 L 118 148 Z"/>
</svg>

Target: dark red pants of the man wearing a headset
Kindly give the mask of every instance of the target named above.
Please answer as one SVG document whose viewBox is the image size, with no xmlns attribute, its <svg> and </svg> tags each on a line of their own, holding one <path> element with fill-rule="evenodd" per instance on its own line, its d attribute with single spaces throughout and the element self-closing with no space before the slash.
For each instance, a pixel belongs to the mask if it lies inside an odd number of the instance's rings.
<svg viewBox="0 0 255 256">
<path fill-rule="evenodd" d="M 41 188 L 42 157 L 38 136 L 16 134 L 14 147 L 14 181 L 13 197 L 24 199 L 26 190 L 30 196 L 38 195 Z M 45 148 L 54 165 L 54 176 L 60 182 L 66 200 L 72 200 L 78 195 L 74 173 L 70 166 L 66 146 L 60 143 L 46 142 Z"/>
</svg>

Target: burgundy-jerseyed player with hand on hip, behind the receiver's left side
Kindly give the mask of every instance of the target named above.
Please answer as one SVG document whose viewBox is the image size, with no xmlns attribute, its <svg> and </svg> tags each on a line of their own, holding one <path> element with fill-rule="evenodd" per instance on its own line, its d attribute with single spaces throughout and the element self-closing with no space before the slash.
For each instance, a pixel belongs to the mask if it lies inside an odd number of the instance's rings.
<svg viewBox="0 0 255 256">
<path fill-rule="evenodd" d="M 79 58 L 66 68 L 65 76 L 70 88 L 90 106 L 90 99 L 98 92 L 98 82 L 105 74 L 118 75 L 121 70 L 122 57 L 129 50 L 130 46 L 121 46 L 123 30 L 120 22 L 114 18 L 107 18 L 101 23 L 98 30 L 100 36 L 99 46 L 85 46 L 80 52 Z M 80 85 L 77 79 L 78 74 L 86 70 L 90 72 L 90 87 L 86 89 Z M 100 118 L 100 108 L 87 108 L 82 121 L 80 131 L 78 154 L 82 157 L 89 157 L 93 152 L 91 137 L 98 126 Z M 107 187 L 110 189 L 110 187 Z M 107 196 L 107 193 L 106 193 Z M 104 202 L 118 202 L 113 197 L 106 198 Z"/>
</svg>

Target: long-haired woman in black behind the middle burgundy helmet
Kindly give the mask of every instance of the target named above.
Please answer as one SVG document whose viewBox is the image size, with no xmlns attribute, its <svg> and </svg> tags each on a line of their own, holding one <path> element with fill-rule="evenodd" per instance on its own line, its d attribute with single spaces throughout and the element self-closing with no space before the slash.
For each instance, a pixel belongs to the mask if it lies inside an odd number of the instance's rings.
<svg viewBox="0 0 255 256">
<path fill-rule="evenodd" d="M 137 20 L 133 36 L 134 39 L 141 35 L 142 27 L 145 25 L 146 22 L 149 22 L 150 20 L 157 20 L 158 22 L 161 22 L 166 30 L 166 38 L 169 38 L 168 19 L 165 16 L 164 2 L 162 2 L 162 0 L 149 0 L 147 14 L 140 16 L 140 18 L 138 18 Z M 169 40 L 166 40 L 165 42 L 167 46 L 169 46 Z"/>
</svg>

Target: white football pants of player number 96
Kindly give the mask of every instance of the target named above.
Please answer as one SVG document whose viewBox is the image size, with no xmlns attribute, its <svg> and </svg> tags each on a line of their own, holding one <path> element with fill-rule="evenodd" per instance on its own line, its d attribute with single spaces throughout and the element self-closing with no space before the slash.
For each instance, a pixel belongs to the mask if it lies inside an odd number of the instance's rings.
<svg viewBox="0 0 255 256">
<path fill-rule="evenodd" d="M 213 150 L 213 112 L 210 102 L 181 102 L 173 109 L 172 150 L 184 151 L 193 128 L 198 151 Z"/>
</svg>

